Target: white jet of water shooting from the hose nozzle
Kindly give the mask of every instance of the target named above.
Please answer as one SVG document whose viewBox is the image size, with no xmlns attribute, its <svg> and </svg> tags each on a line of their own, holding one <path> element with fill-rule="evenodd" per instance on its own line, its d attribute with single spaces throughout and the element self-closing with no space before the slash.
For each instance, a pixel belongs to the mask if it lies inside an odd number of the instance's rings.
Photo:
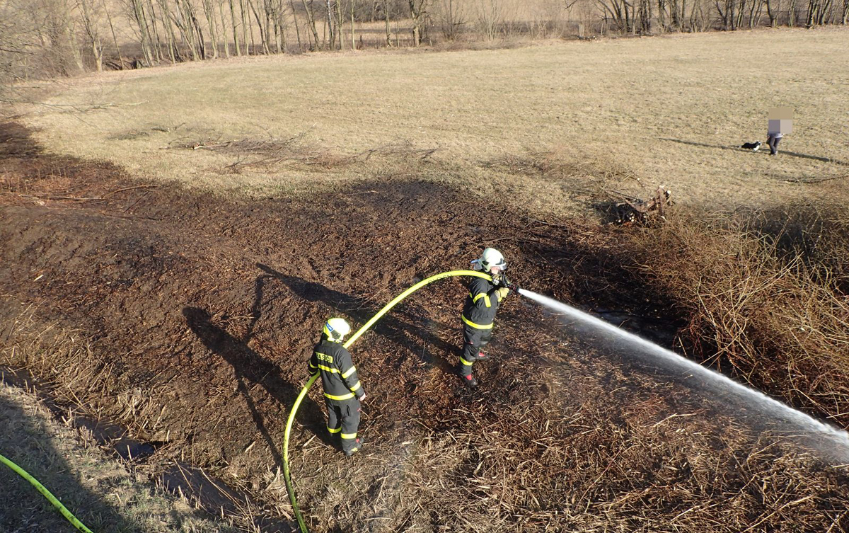
<svg viewBox="0 0 849 533">
<path fill-rule="evenodd" d="M 666 350 L 659 345 L 655 345 L 655 343 L 641 339 L 635 334 L 629 333 L 621 328 L 616 328 L 616 326 L 606 323 L 600 318 L 593 317 L 583 311 L 578 311 L 576 308 L 567 306 L 563 302 L 548 298 L 547 296 L 538 295 L 537 293 L 526 289 L 519 289 L 519 294 L 548 307 L 557 315 L 571 317 L 583 324 L 598 329 L 601 333 L 615 335 L 619 339 L 626 340 L 633 345 L 638 345 L 650 355 L 658 357 L 667 363 L 672 363 L 674 366 L 683 367 L 693 375 L 700 376 L 700 378 L 710 382 L 712 385 L 717 387 L 717 389 L 732 392 L 736 396 L 752 401 L 757 407 L 770 412 L 773 416 L 776 416 L 788 423 L 796 432 L 801 430 L 806 432 L 808 434 L 807 436 L 817 436 L 818 444 L 828 446 L 826 448 L 818 446 L 822 451 L 833 454 L 836 457 L 849 457 L 849 434 L 847 434 L 846 431 L 842 431 L 841 429 L 836 429 L 828 424 L 819 422 L 804 412 L 797 411 L 792 407 L 784 405 L 784 403 L 781 403 L 780 401 L 773 400 L 773 398 L 766 396 L 759 390 L 750 389 L 745 385 L 737 383 L 733 379 L 723 376 L 721 373 L 714 372 L 710 368 L 702 367 L 696 362 L 690 361 L 683 356 L 679 356 L 674 351 Z"/>
</svg>

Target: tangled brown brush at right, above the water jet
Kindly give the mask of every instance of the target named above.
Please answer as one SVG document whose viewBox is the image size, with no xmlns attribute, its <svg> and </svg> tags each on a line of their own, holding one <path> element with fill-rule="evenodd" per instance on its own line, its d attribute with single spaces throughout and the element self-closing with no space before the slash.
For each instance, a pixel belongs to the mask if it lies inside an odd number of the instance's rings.
<svg viewBox="0 0 849 533">
<path fill-rule="evenodd" d="M 632 244 L 640 270 L 689 320 L 683 337 L 695 357 L 846 428 L 846 210 L 803 211 L 679 212 Z"/>
</svg>

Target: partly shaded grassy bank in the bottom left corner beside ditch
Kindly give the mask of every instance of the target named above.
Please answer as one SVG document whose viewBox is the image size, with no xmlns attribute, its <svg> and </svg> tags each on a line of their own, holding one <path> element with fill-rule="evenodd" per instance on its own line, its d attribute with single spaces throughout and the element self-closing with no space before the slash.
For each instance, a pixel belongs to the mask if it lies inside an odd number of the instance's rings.
<svg viewBox="0 0 849 533">
<path fill-rule="evenodd" d="M 29 390 L 0 382 L 0 420 L 0 452 L 47 486 L 92 530 L 235 530 L 200 516 L 185 499 L 155 489 L 142 474 L 98 449 L 90 434 L 54 419 Z M 5 466 L 0 468 L 0 482 L 0 529 L 33 533 L 73 530 L 34 487 Z"/>
</svg>

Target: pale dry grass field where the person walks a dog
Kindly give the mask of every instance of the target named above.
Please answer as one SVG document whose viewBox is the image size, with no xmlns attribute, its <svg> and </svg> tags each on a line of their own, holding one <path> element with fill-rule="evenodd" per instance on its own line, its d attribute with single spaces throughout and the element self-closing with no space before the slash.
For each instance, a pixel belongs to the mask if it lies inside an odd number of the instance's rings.
<svg viewBox="0 0 849 533">
<path fill-rule="evenodd" d="M 688 204 L 764 206 L 833 194 L 818 183 L 849 174 L 847 42 L 829 28 L 177 65 L 73 81 L 31 125 L 50 150 L 196 188 L 273 195 L 415 172 L 535 212 L 658 185 Z M 764 140 L 774 105 L 796 112 L 782 154 L 734 149 Z M 180 148 L 230 141 L 274 149 Z M 346 160 L 381 147 L 436 151 L 416 168 Z"/>
</svg>

